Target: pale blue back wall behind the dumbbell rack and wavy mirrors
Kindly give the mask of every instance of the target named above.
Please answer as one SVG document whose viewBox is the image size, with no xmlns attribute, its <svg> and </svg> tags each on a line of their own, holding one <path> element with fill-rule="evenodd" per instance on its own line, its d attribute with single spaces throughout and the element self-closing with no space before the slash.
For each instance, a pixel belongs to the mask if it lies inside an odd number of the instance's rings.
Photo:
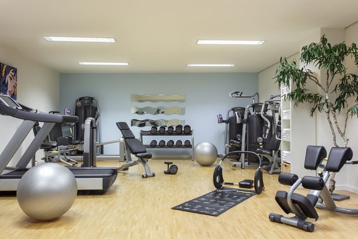
<svg viewBox="0 0 358 239">
<path fill-rule="evenodd" d="M 99 100 L 101 141 L 115 140 L 120 132 L 117 121 L 157 119 L 153 115 L 131 115 L 130 106 L 181 106 L 185 115 L 159 115 L 164 119 L 184 119 L 194 131 L 194 143 L 209 141 L 223 151 L 225 125 L 217 123 L 217 114 L 226 115 L 228 108 L 245 106 L 250 99 L 230 98 L 232 91 L 253 94 L 258 91 L 257 73 L 178 73 L 178 74 L 61 74 L 60 107 L 74 109 L 75 100 L 92 96 Z M 184 103 L 130 102 L 130 94 L 184 94 Z M 147 127 L 149 128 L 149 127 Z M 146 128 L 146 129 L 147 129 Z M 140 128 L 132 127 L 135 135 Z M 169 139 L 169 138 L 167 138 Z M 117 145 L 105 147 L 106 154 L 118 154 Z"/>
</svg>

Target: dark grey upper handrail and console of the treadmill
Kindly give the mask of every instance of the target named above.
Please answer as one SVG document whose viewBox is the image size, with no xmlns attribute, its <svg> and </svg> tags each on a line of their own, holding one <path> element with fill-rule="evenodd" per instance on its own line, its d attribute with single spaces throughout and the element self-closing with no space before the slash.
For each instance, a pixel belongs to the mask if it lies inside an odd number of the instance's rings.
<svg viewBox="0 0 358 239">
<path fill-rule="evenodd" d="M 22 106 L 22 105 L 21 105 Z M 33 110 L 26 107 L 28 110 Z M 64 115 L 53 115 L 40 111 L 27 111 L 19 110 L 0 103 L 0 113 L 2 115 L 12 116 L 18 119 L 31 120 L 37 122 L 48 122 L 48 123 L 76 123 L 78 121 L 77 116 L 64 116 Z"/>
</svg>

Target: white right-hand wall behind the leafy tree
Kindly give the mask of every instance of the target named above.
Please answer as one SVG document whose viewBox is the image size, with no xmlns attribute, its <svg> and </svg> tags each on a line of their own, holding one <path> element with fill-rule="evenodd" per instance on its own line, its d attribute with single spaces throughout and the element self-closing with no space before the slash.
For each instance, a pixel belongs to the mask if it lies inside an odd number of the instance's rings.
<svg viewBox="0 0 358 239">
<path fill-rule="evenodd" d="M 312 32 L 310 35 L 305 36 L 302 41 L 300 48 L 308 45 L 310 42 L 318 42 L 320 37 L 325 34 L 328 41 L 332 44 L 337 44 L 338 42 L 346 41 L 347 44 L 355 42 L 358 44 L 358 23 L 349 26 L 346 29 L 327 29 L 322 28 L 318 29 L 315 32 Z M 297 49 L 300 50 L 300 49 Z M 299 59 L 299 53 L 291 56 L 288 60 Z M 278 59 L 279 60 L 279 59 Z M 275 83 L 275 80 L 272 78 L 275 76 L 278 63 L 259 72 L 259 94 L 260 98 L 269 97 L 270 95 L 277 94 L 279 92 L 278 85 Z M 302 67 L 302 64 L 301 66 Z M 354 64 L 352 59 L 346 60 L 346 67 L 350 73 L 358 74 L 358 69 Z M 310 70 L 315 71 L 315 68 L 312 66 L 308 67 Z M 318 72 L 320 76 L 323 72 Z M 342 117 L 339 118 L 342 120 Z M 358 119 L 348 119 L 347 125 L 347 137 L 350 139 L 348 146 L 352 148 L 355 155 L 358 154 L 358 128 L 355 127 Z M 343 141 L 339 139 L 337 134 L 338 143 L 340 146 L 343 146 Z M 318 114 L 316 118 L 316 144 L 323 145 L 329 151 L 332 144 L 332 135 L 327 123 L 327 119 L 324 115 Z M 356 159 L 353 158 L 353 160 Z M 356 173 L 356 168 L 353 165 L 345 166 L 340 173 L 337 174 L 336 188 L 337 189 L 346 189 L 354 192 L 358 192 L 358 175 Z"/>
</svg>

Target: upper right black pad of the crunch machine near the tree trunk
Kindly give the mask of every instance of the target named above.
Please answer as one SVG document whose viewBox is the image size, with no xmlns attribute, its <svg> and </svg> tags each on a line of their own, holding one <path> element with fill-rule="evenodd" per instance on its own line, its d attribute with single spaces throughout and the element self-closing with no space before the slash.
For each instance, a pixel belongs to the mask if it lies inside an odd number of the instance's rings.
<svg viewBox="0 0 358 239">
<path fill-rule="evenodd" d="M 326 171 L 339 172 L 343 165 L 353 158 L 353 151 L 349 147 L 332 147 L 329 151 Z"/>
</svg>

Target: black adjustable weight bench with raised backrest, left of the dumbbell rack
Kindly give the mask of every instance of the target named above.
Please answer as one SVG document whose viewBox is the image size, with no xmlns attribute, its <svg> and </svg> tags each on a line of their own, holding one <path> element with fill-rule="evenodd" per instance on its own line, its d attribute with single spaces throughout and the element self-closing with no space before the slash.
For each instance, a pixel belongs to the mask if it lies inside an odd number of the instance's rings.
<svg viewBox="0 0 358 239">
<path fill-rule="evenodd" d="M 124 139 L 124 149 L 126 155 L 126 163 L 122 164 L 122 166 L 118 168 L 118 171 L 128 170 L 128 167 L 141 163 L 145 170 L 145 174 L 142 175 L 142 178 L 154 177 L 155 173 L 150 171 L 148 164 L 148 159 L 150 159 L 152 155 L 147 153 L 147 149 L 143 143 L 139 139 L 136 139 L 126 122 L 117 122 L 116 124 Z M 130 154 L 135 155 L 138 160 L 133 161 Z"/>
</svg>

